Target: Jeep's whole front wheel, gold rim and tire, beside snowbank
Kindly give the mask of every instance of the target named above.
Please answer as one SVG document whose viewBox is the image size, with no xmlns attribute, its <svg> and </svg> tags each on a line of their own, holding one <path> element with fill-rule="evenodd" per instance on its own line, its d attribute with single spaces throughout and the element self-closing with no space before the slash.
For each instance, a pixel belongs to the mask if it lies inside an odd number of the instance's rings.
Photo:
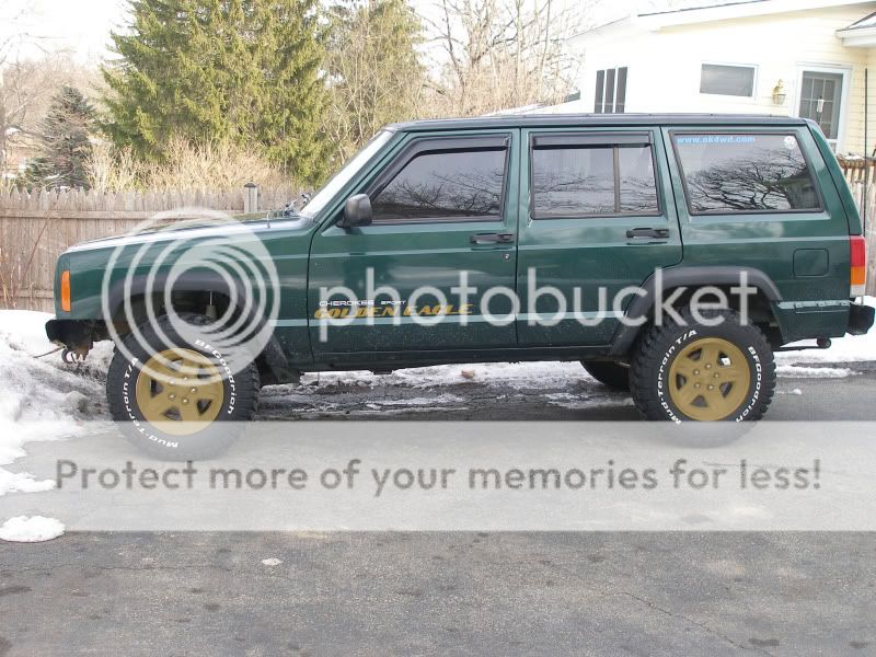
<svg viewBox="0 0 876 657">
<path fill-rule="evenodd" d="M 210 320 L 186 315 L 185 322 L 197 331 Z M 231 368 L 234 355 L 182 337 L 166 318 L 157 324 L 141 326 L 138 338 L 131 334 L 116 349 L 106 376 L 110 413 L 125 437 L 152 457 L 214 457 L 255 414 L 258 370 L 253 362 Z"/>
</svg>

